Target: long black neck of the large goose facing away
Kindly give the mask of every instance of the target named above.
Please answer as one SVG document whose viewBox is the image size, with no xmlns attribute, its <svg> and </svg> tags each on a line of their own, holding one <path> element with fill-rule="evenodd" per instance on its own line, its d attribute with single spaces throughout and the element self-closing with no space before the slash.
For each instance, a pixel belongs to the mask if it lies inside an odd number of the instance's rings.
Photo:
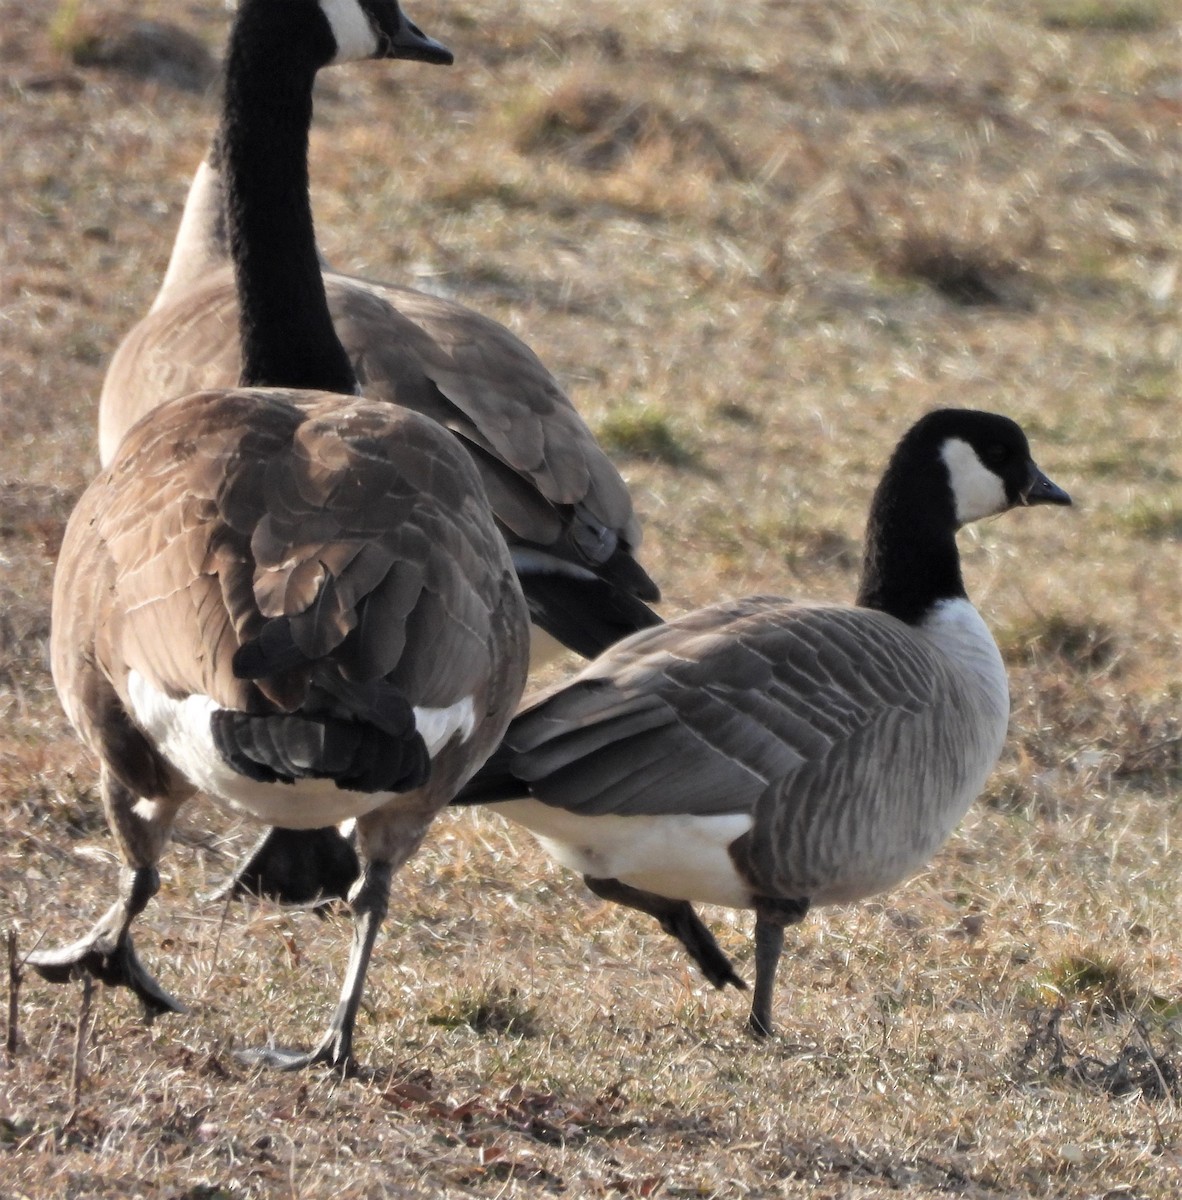
<svg viewBox="0 0 1182 1200">
<path fill-rule="evenodd" d="M 244 386 L 356 390 L 329 316 L 308 197 L 312 84 L 332 53 L 314 6 L 244 2 L 230 35 L 218 158 Z"/>
</svg>

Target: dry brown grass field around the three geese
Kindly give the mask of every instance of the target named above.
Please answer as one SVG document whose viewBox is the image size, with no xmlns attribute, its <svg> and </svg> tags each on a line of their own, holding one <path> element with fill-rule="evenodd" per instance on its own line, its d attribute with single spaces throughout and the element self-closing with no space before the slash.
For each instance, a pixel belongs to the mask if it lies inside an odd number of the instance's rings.
<svg viewBox="0 0 1182 1200">
<path fill-rule="evenodd" d="M 619 456 L 668 612 L 848 599 L 905 426 L 949 403 L 1026 426 L 1078 506 L 962 536 L 1010 664 L 1003 763 L 922 877 L 793 934 L 767 1045 L 655 928 L 445 817 L 346 1082 L 234 1062 L 318 1032 L 347 930 L 202 902 L 252 830 L 194 806 L 139 937 L 192 1010 L 148 1028 L 96 994 L 76 1097 L 80 989 L 28 978 L 0 1198 L 1182 1194 L 1176 6 L 412 14 L 457 65 L 323 78 L 322 242 L 534 346 Z M 191 41 L 145 48 L 133 18 Z M 47 670 L 52 562 L 226 14 L 0 0 L 0 930 L 26 952 L 115 875 Z M 750 977 L 746 920 L 707 916 Z"/>
</svg>

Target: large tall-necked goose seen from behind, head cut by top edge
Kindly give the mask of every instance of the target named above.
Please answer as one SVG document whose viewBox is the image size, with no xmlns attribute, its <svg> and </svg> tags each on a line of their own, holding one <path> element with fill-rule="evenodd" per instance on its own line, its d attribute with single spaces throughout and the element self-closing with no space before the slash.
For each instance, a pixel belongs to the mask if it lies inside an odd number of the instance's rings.
<svg viewBox="0 0 1182 1200">
<path fill-rule="evenodd" d="M 242 377 L 152 408 L 72 514 L 52 665 L 100 760 L 122 858 L 110 910 L 38 950 L 47 979 L 180 1008 L 131 926 L 197 791 L 260 822 L 355 820 L 361 874 L 340 1003 L 278 1068 L 354 1064 L 391 876 L 484 762 L 524 689 L 528 612 L 469 455 L 434 421 L 358 396 L 316 258 L 312 85 L 331 61 L 446 64 L 396 0 L 240 0 L 221 139 Z"/>
</svg>

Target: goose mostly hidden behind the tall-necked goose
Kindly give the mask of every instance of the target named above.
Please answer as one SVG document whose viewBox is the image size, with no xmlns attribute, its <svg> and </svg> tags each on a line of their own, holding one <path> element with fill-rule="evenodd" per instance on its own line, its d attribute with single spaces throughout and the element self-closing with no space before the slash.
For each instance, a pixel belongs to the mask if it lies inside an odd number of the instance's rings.
<svg viewBox="0 0 1182 1200">
<path fill-rule="evenodd" d="M 238 378 L 234 280 L 217 139 L 193 178 L 151 310 L 112 360 L 98 409 L 110 461 L 162 400 Z M 362 392 L 451 430 L 472 455 L 535 626 L 534 661 L 584 658 L 658 624 L 636 560 L 640 522 L 619 473 L 553 376 L 503 325 L 410 288 L 324 269 L 337 336 Z"/>
</svg>

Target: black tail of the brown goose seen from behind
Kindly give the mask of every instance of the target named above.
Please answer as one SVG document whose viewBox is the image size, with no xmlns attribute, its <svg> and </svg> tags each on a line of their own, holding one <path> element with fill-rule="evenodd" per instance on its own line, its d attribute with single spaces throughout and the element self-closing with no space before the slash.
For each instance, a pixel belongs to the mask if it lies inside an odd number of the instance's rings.
<svg viewBox="0 0 1182 1200">
<path fill-rule="evenodd" d="M 263 784 L 331 779 L 353 792 L 408 792 L 421 787 L 431 773 L 426 744 L 416 732 L 400 738 L 330 716 L 233 709 L 215 712 L 210 727 L 230 767 Z"/>
</svg>

